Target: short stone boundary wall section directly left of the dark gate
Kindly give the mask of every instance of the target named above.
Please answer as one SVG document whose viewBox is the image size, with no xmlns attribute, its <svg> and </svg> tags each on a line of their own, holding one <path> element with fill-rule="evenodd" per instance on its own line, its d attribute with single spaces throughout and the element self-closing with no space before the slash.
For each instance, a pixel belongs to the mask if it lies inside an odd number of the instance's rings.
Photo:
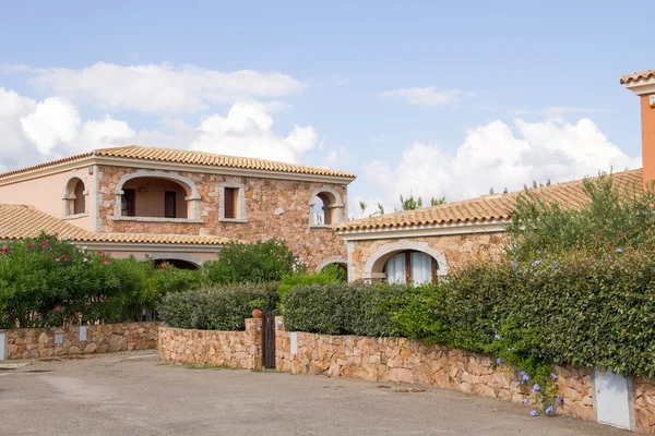
<svg viewBox="0 0 655 436">
<path fill-rule="evenodd" d="M 187 330 L 159 327 L 159 358 L 168 362 L 262 367 L 261 319 L 246 319 L 246 331 Z"/>
</svg>

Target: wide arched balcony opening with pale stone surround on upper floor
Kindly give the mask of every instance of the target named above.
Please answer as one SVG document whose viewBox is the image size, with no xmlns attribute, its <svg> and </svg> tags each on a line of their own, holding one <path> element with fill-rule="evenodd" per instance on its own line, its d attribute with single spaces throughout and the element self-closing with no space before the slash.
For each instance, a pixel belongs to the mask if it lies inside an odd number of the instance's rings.
<svg viewBox="0 0 655 436">
<path fill-rule="evenodd" d="M 114 219 L 201 222 L 200 201 L 195 183 L 187 177 L 135 171 L 121 177 L 116 185 Z"/>
</svg>

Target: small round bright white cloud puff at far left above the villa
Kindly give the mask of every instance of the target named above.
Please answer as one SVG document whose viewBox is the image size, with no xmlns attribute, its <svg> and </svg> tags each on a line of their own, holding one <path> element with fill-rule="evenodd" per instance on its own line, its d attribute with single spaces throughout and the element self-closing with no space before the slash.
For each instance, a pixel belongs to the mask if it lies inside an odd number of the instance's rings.
<svg viewBox="0 0 655 436">
<path fill-rule="evenodd" d="M 44 155 L 49 155 L 59 143 L 73 141 L 81 124 L 78 108 L 58 97 L 46 98 L 32 113 L 21 118 L 23 132 Z"/>
</svg>

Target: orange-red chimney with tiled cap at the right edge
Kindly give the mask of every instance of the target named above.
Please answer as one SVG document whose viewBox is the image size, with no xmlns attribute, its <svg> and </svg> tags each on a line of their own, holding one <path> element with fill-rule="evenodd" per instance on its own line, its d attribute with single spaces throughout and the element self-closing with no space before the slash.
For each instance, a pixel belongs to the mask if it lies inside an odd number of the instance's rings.
<svg viewBox="0 0 655 436">
<path fill-rule="evenodd" d="M 621 85 L 640 98 L 644 184 L 655 180 L 655 70 L 623 74 Z"/>
</svg>

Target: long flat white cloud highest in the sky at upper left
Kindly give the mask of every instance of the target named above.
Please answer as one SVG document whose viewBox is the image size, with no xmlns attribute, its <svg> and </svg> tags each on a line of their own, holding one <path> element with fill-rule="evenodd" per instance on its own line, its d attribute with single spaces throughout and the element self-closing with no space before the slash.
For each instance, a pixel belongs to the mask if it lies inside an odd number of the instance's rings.
<svg viewBox="0 0 655 436">
<path fill-rule="evenodd" d="M 144 112 L 194 112 L 213 102 L 298 94 L 306 86 L 283 73 L 225 73 L 170 63 L 122 66 L 97 62 L 81 70 L 19 65 L 11 71 L 32 74 L 31 84 L 68 99 Z"/>
</svg>

